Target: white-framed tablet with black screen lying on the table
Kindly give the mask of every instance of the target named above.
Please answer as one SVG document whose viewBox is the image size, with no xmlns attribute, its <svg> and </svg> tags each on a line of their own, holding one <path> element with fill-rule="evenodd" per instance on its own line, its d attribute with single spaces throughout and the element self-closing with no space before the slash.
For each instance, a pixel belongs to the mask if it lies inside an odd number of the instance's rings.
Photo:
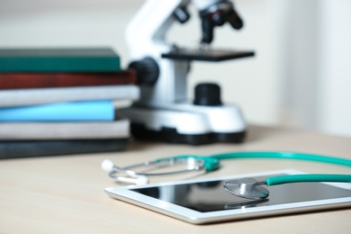
<svg viewBox="0 0 351 234">
<path fill-rule="evenodd" d="M 347 183 L 296 183 L 266 186 L 265 200 L 236 197 L 223 188 L 226 181 L 254 177 L 302 174 L 283 170 L 247 175 L 202 178 L 160 184 L 105 188 L 112 198 L 139 205 L 194 224 L 242 220 L 351 207 L 351 185 Z"/>
</svg>

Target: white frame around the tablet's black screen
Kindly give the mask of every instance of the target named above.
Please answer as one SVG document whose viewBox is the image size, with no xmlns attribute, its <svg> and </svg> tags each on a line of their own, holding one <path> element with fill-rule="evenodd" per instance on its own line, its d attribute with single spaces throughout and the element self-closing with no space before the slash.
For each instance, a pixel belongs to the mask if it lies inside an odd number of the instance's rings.
<svg viewBox="0 0 351 234">
<path fill-rule="evenodd" d="M 351 206 L 351 196 L 346 198 L 334 198 L 325 200 L 316 200 L 313 202 L 293 202 L 286 204 L 275 204 L 271 206 L 254 207 L 250 209 L 226 210 L 226 211 L 193 211 L 191 209 L 176 205 L 174 203 L 158 200 L 157 198 L 149 197 L 147 195 L 137 193 L 131 189 L 147 188 L 153 186 L 175 185 L 175 184 L 191 184 L 210 182 L 215 180 L 229 180 L 238 179 L 242 177 L 256 177 L 256 176 L 270 176 L 277 174 L 304 174 L 301 171 L 287 169 L 278 171 L 268 171 L 260 173 L 251 173 L 245 175 L 229 175 L 202 179 L 181 180 L 157 184 L 144 184 L 144 185 L 130 185 L 123 187 L 108 187 L 104 191 L 110 197 L 136 204 L 138 206 L 147 208 L 151 211 L 157 211 L 168 216 L 174 217 L 178 220 L 184 220 L 193 224 L 203 224 L 209 222 L 218 222 L 226 220 L 243 220 L 251 219 L 262 216 L 282 215 L 293 212 L 306 212 L 306 211 L 320 211 L 328 209 L 337 209 Z M 338 183 L 324 183 L 339 188 L 351 190 L 350 184 Z"/>
</svg>

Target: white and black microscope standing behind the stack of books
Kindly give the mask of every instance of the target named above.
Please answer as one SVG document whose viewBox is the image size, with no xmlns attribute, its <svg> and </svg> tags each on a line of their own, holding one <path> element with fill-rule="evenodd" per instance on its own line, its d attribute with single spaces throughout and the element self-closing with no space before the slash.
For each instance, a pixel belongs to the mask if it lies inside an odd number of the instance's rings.
<svg viewBox="0 0 351 234">
<path fill-rule="evenodd" d="M 202 39 L 199 48 L 185 49 L 166 42 L 172 23 L 186 23 L 189 4 L 199 10 Z M 237 105 L 220 100 L 220 86 L 195 87 L 187 97 L 187 74 L 192 61 L 219 62 L 254 56 L 252 51 L 211 49 L 216 26 L 243 25 L 234 5 L 227 0 L 147 0 L 127 27 L 130 68 L 137 71 L 140 99 L 121 113 L 130 119 L 136 139 L 201 145 L 241 142 L 247 125 Z"/>
</svg>

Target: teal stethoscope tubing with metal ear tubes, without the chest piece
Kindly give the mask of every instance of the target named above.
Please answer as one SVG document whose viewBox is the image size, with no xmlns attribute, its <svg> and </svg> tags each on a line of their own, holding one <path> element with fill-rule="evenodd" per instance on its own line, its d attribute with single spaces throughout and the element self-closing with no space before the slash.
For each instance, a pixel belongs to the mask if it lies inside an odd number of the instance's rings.
<svg viewBox="0 0 351 234">
<path fill-rule="evenodd" d="M 193 158 L 195 160 L 202 160 L 203 166 L 200 166 L 192 170 L 180 170 L 166 173 L 139 173 L 132 170 L 135 167 L 139 166 L 152 166 L 157 164 L 162 164 L 164 162 L 184 161 L 186 158 Z M 237 159 L 237 158 L 279 158 L 279 159 L 297 159 L 297 160 L 307 160 L 313 162 L 321 162 L 334 164 L 339 166 L 351 166 L 351 160 L 341 157 L 329 157 L 297 152 L 281 152 L 281 151 L 243 151 L 243 152 L 229 152 L 211 155 L 208 157 L 202 156 L 193 156 L 193 155 L 183 155 L 176 157 L 165 157 L 157 158 L 155 161 L 146 161 L 144 163 L 119 167 L 115 166 L 114 170 L 110 172 L 110 176 L 115 179 L 123 178 L 120 175 L 116 175 L 118 172 L 122 172 L 126 175 L 131 176 L 132 178 L 138 178 L 139 176 L 155 176 L 155 175 L 173 175 L 179 173 L 185 173 L 189 171 L 201 171 L 205 169 L 206 172 L 211 172 L 220 167 L 220 161 L 224 159 Z M 186 160 L 185 160 L 186 161 Z M 288 183 L 298 183 L 298 182 L 351 182 L 351 175 L 328 175 L 328 174 L 306 174 L 306 175 L 284 175 L 284 176 L 275 176 L 266 178 L 266 185 L 275 185 L 275 184 L 288 184 Z"/>
</svg>

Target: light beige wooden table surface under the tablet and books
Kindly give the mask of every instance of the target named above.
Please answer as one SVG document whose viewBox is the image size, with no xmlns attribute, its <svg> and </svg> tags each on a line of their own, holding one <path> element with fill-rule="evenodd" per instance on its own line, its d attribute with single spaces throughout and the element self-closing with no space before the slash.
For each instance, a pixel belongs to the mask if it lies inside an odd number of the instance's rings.
<svg viewBox="0 0 351 234">
<path fill-rule="evenodd" d="M 108 197 L 103 188 L 120 186 L 101 169 L 105 158 L 127 166 L 157 157 L 207 156 L 222 152 L 279 150 L 351 159 L 351 139 L 310 130 L 250 126 L 242 144 L 204 146 L 131 141 L 124 152 L 0 161 L 0 233 L 349 233 L 351 209 L 319 211 L 193 225 Z M 349 174 L 346 166 L 298 160 L 237 159 L 201 177 L 293 168 L 308 173 Z M 151 182 L 169 181 L 180 175 Z"/>
</svg>

